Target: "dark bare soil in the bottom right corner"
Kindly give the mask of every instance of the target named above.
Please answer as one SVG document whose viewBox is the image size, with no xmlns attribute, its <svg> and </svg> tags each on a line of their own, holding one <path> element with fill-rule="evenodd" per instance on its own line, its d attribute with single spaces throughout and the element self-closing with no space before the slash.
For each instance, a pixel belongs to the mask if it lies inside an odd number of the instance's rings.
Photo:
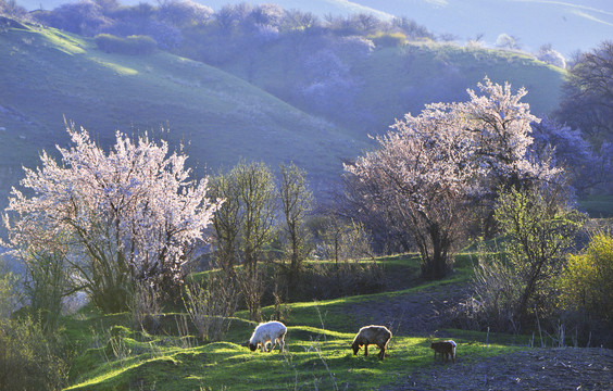
<svg viewBox="0 0 613 391">
<path fill-rule="evenodd" d="M 613 350 L 609 349 L 531 349 L 478 363 L 462 360 L 418 369 L 380 390 L 613 390 Z"/>
</svg>

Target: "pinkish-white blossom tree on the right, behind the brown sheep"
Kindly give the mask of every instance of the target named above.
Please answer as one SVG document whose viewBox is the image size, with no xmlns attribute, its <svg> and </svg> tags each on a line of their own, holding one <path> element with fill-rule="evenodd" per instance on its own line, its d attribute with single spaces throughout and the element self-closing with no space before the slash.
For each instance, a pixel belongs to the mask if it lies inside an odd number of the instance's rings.
<svg viewBox="0 0 613 391">
<path fill-rule="evenodd" d="M 366 207 L 410 231 L 422 256 L 422 274 L 442 278 L 453 244 L 464 231 L 471 204 L 491 199 L 501 185 L 550 180 L 559 171 L 528 159 L 530 123 L 538 121 L 511 86 L 478 85 L 462 103 L 433 103 L 406 114 L 377 138 L 379 148 L 346 171 L 361 182 Z"/>
</svg>

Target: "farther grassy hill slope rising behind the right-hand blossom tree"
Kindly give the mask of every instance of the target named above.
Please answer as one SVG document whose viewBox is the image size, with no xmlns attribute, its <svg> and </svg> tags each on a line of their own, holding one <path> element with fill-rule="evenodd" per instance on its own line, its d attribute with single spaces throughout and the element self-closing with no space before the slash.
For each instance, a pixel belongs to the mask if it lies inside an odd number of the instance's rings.
<svg viewBox="0 0 613 391">
<path fill-rule="evenodd" d="M 356 135 L 385 131 L 395 118 L 408 112 L 417 114 L 426 103 L 465 101 L 466 89 L 477 89 L 486 75 L 498 84 L 511 83 L 514 90 L 525 87 L 528 94 L 523 101 L 542 117 L 556 109 L 565 75 L 565 71 L 526 54 L 431 41 L 378 48 L 364 56 L 350 49 L 336 54 L 349 70 L 345 77 L 351 80 L 353 92 L 346 99 L 333 100 L 329 106 L 336 110 L 328 111 L 334 112 L 337 123 Z M 318 55 L 316 50 L 279 42 L 264 48 L 254 61 L 235 59 L 223 66 L 263 89 L 287 93 L 313 83 L 302 79 L 300 65 L 288 64 L 287 59 L 310 62 Z M 350 115 L 343 109 L 347 101 L 352 105 Z M 293 104 L 309 110 L 309 103 L 300 100 Z"/>
</svg>

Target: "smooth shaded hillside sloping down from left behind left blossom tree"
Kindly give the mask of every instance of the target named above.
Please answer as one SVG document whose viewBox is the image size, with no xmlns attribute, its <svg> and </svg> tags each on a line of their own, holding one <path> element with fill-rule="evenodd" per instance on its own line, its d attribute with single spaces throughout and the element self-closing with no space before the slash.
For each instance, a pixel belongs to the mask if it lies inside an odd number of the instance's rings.
<svg viewBox="0 0 613 391">
<path fill-rule="evenodd" d="M 103 144 L 116 129 L 158 134 L 164 126 L 173 143 L 189 143 L 200 168 L 232 166 L 240 156 L 273 166 L 291 160 L 321 182 L 362 148 L 237 77 L 164 52 L 109 54 L 90 39 L 24 26 L 0 35 L 0 63 L 2 189 L 21 165 L 37 164 L 41 149 L 67 141 L 63 117 Z"/>
</svg>

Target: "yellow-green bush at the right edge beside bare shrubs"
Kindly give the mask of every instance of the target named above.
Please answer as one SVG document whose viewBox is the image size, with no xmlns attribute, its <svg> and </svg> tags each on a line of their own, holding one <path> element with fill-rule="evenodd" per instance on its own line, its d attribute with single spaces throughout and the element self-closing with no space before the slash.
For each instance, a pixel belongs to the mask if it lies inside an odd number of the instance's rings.
<svg viewBox="0 0 613 391">
<path fill-rule="evenodd" d="M 598 232 L 583 252 L 570 255 L 560 285 L 564 308 L 612 321 L 613 235 Z"/>
</svg>

